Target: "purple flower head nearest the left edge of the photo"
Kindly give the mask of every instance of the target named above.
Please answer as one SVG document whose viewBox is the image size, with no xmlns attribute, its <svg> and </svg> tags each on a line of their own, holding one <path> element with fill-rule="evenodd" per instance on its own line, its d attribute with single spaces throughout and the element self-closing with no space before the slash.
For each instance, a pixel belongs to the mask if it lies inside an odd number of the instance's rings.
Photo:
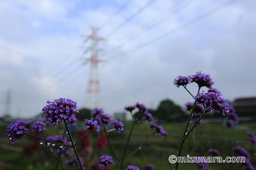
<svg viewBox="0 0 256 170">
<path fill-rule="evenodd" d="M 7 127 L 7 136 L 12 141 L 14 146 L 15 141 L 26 135 L 30 128 L 31 121 L 16 120 Z M 13 147 L 12 146 L 12 147 Z"/>
</svg>

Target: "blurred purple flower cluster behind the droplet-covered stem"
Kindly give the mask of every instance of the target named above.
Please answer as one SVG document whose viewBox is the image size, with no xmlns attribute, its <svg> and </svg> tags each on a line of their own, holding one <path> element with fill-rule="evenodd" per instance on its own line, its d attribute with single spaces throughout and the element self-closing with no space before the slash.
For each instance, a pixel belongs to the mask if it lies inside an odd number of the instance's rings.
<svg viewBox="0 0 256 170">
<path fill-rule="evenodd" d="M 57 135 L 57 136 L 46 137 L 46 139 L 49 140 L 49 142 L 44 141 L 44 144 L 46 146 L 51 146 L 52 147 L 52 151 L 53 151 L 55 156 L 57 156 L 59 154 L 65 154 L 65 155 L 68 155 L 68 156 L 70 155 L 69 147 L 67 147 L 67 146 L 57 146 L 53 143 L 51 144 L 51 141 L 55 141 L 55 142 L 63 143 L 63 144 L 69 144 L 66 137 L 62 137 L 62 135 Z"/>
</svg>

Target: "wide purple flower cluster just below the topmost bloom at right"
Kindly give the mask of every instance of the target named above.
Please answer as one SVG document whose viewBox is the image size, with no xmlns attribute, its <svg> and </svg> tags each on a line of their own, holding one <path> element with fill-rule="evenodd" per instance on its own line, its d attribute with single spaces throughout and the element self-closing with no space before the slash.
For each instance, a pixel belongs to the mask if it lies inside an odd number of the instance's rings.
<svg viewBox="0 0 256 170">
<path fill-rule="evenodd" d="M 194 99 L 198 103 L 204 104 L 205 110 L 211 109 L 212 112 L 215 110 L 216 112 L 221 112 L 222 115 L 229 113 L 229 104 L 227 101 L 214 92 L 199 93 Z"/>
</svg>

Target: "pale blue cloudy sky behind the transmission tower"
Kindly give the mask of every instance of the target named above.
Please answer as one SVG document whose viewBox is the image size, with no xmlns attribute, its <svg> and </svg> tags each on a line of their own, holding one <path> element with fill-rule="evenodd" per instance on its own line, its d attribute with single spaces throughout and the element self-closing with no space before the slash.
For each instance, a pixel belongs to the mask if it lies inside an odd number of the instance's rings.
<svg viewBox="0 0 256 170">
<path fill-rule="evenodd" d="M 91 27 L 104 38 L 99 107 L 109 114 L 137 101 L 155 109 L 165 98 L 183 107 L 192 98 L 173 81 L 199 71 L 210 74 L 226 100 L 255 97 L 255 6 L 255 0 L 2 1 L 0 116 L 9 106 L 12 117 L 32 117 L 60 97 L 87 106 Z"/>
</svg>

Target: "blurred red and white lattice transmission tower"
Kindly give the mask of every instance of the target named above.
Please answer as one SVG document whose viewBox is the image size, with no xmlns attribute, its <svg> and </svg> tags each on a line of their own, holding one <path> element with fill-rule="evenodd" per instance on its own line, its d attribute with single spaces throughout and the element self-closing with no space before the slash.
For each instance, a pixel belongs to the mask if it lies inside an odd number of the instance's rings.
<svg viewBox="0 0 256 170">
<path fill-rule="evenodd" d="M 99 107 L 99 94 L 100 94 L 100 84 L 98 77 L 98 63 L 104 62 L 104 60 L 98 59 L 98 52 L 101 50 L 98 48 L 99 41 L 104 40 L 104 38 L 98 36 L 98 28 L 91 27 L 91 35 L 85 35 L 85 42 L 89 39 L 91 40 L 91 46 L 85 51 L 91 51 L 91 57 L 85 58 L 85 63 L 90 62 L 90 75 L 87 83 L 87 97 L 85 106 L 89 109 L 95 109 Z"/>
</svg>

